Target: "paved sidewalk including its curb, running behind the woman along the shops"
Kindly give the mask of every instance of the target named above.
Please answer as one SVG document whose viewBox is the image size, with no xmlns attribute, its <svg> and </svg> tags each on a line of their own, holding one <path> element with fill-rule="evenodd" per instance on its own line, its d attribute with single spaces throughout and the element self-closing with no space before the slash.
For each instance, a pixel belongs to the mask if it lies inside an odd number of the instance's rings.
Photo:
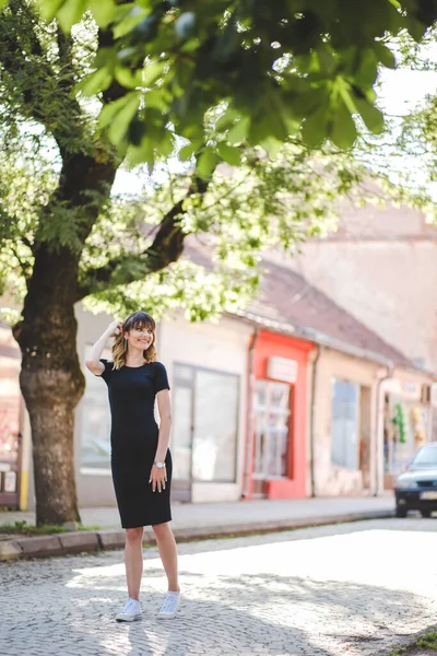
<svg viewBox="0 0 437 656">
<path fill-rule="evenodd" d="M 175 504 L 173 512 L 175 537 L 184 541 L 392 517 L 393 499 L 385 495 Z M 38 537 L 0 534 L 0 561 L 121 549 L 125 546 L 125 531 L 120 528 L 117 508 L 82 508 L 81 517 L 84 526 L 98 528 Z M 0 524 L 24 520 L 34 524 L 34 513 L 0 513 Z M 146 527 L 144 543 L 153 542 L 153 530 Z"/>
</svg>

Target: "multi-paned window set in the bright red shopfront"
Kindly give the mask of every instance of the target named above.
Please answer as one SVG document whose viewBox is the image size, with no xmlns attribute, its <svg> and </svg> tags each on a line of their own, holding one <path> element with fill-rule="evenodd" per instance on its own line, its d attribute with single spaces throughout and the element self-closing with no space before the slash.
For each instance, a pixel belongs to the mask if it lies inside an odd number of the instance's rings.
<svg viewBox="0 0 437 656">
<path fill-rule="evenodd" d="M 290 385 L 257 380 L 253 475 L 288 476 Z"/>
</svg>

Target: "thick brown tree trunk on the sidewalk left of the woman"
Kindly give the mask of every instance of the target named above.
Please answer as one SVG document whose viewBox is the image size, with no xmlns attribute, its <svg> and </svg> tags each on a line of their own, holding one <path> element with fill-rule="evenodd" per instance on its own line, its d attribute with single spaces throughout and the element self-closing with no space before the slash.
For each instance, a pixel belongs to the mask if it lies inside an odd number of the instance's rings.
<svg viewBox="0 0 437 656">
<path fill-rule="evenodd" d="M 37 525 L 80 520 L 74 479 L 74 408 L 85 382 L 76 354 L 79 256 L 42 244 L 23 320 L 21 389 L 32 426 Z"/>
</svg>

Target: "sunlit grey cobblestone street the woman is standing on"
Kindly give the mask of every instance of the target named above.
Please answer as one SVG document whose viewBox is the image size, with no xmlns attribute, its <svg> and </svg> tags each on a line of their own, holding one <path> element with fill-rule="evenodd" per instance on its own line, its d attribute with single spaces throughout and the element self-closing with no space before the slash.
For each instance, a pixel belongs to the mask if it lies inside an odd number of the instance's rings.
<svg viewBox="0 0 437 656">
<path fill-rule="evenodd" d="M 179 616 L 144 550 L 144 619 L 118 624 L 122 552 L 0 565 L 3 656 L 376 656 L 437 622 L 437 520 L 411 517 L 179 546 Z"/>
</svg>

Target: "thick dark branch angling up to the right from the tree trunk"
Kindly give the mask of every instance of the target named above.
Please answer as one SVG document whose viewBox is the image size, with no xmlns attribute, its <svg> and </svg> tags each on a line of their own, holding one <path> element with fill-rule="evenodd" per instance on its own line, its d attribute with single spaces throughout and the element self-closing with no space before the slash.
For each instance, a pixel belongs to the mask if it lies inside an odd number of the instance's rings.
<svg viewBox="0 0 437 656">
<path fill-rule="evenodd" d="M 184 253 L 184 241 L 188 234 L 182 230 L 180 222 L 184 214 L 184 201 L 189 196 L 205 194 L 209 183 L 209 179 L 203 180 L 199 177 L 192 180 L 185 198 L 175 203 L 165 214 L 153 244 L 143 253 L 120 256 L 103 267 L 85 271 L 82 282 L 78 285 L 75 301 L 81 301 L 103 288 L 129 284 L 141 280 L 177 261 Z"/>
</svg>

